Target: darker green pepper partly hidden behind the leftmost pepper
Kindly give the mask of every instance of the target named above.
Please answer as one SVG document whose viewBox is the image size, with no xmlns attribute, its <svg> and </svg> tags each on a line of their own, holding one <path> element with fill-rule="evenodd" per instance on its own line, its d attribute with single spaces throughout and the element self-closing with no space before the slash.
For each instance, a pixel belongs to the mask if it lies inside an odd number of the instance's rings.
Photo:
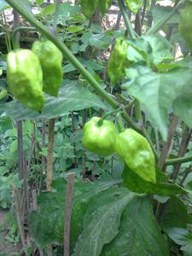
<svg viewBox="0 0 192 256">
<path fill-rule="evenodd" d="M 43 90 L 50 96 L 57 96 L 62 84 L 62 54 L 50 41 L 36 41 L 32 51 L 38 56 L 43 70 Z"/>
</svg>

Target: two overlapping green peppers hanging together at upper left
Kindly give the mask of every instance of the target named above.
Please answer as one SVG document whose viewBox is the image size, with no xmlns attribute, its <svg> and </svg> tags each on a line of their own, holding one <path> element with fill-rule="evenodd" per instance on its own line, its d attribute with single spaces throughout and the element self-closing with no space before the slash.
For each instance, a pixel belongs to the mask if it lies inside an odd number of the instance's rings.
<svg viewBox="0 0 192 256">
<path fill-rule="evenodd" d="M 62 82 L 62 54 L 50 41 L 36 41 L 30 49 L 15 49 L 7 56 L 9 89 L 18 101 L 38 112 L 44 92 L 57 96 Z"/>
</svg>

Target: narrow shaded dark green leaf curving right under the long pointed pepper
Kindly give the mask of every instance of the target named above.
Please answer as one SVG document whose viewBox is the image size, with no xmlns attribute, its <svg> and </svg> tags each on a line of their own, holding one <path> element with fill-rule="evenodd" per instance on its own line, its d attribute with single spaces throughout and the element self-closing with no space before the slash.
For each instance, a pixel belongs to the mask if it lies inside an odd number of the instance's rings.
<svg viewBox="0 0 192 256">
<path fill-rule="evenodd" d="M 159 181 L 157 183 L 149 183 L 139 177 L 135 172 L 131 172 L 127 166 L 124 168 L 122 177 L 127 189 L 141 194 L 177 195 L 188 193 L 177 184 L 161 183 Z M 157 175 L 157 177 L 160 176 Z"/>
</svg>

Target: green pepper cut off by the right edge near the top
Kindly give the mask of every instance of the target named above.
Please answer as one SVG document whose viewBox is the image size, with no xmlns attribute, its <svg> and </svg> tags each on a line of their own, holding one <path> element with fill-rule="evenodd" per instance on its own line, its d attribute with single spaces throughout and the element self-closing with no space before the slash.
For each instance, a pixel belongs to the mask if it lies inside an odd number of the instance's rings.
<svg viewBox="0 0 192 256">
<path fill-rule="evenodd" d="M 192 50 L 192 3 L 187 4 L 181 12 L 178 32 L 189 45 L 189 49 Z"/>
</svg>

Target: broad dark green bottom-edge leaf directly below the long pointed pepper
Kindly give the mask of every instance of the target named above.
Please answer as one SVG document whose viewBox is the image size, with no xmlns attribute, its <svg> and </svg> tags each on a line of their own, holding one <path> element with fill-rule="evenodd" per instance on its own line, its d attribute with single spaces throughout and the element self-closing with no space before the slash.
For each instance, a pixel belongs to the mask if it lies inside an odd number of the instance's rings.
<svg viewBox="0 0 192 256">
<path fill-rule="evenodd" d="M 101 256 L 117 255 L 169 255 L 148 197 L 137 196 L 130 201 L 122 215 L 119 234 L 103 247 Z"/>
</svg>

